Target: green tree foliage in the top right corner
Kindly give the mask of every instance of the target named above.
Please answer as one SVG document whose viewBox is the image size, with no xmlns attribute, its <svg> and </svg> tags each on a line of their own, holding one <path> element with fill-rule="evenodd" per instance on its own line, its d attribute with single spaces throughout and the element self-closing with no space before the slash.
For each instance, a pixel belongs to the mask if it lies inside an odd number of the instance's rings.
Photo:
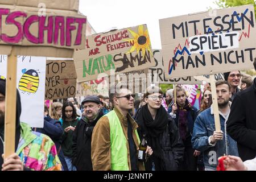
<svg viewBox="0 0 256 182">
<path fill-rule="evenodd" d="M 214 3 L 221 8 L 224 7 L 234 7 L 234 6 L 242 6 L 242 5 L 254 5 L 254 12 L 256 15 L 256 1 L 254 0 L 218 0 Z"/>
</svg>

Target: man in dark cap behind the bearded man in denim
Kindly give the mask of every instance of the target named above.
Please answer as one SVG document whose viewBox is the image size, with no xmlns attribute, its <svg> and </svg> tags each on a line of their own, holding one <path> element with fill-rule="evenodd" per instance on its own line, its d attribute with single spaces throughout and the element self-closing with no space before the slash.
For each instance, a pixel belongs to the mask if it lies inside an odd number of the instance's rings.
<svg viewBox="0 0 256 182">
<path fill-rule="evenodd" d="M 230 91 L 232 92 L 232 96 L 229 100 L 233 101 L 236 94 L 240 92 L 240 89 L 238 88 L 241 79 L 240 71 L 226 72 L 224 73 L 224 79 L 228 81 L 229 85 L 231 86 Z"/>
</svg>

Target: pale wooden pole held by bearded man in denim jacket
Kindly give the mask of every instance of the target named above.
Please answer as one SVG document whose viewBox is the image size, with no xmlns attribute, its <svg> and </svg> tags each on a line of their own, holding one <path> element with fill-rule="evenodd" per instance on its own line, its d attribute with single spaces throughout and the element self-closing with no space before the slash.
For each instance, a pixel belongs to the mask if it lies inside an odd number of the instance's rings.
<svg viewBox="0 0 256 182">
<path fill-rule="evenodd" d="M 210 89 L 212 90 L 212 104 L 214 113 L 215 130 L 221 131 L 220 114 L 218 113 L 218 100 L 214 75 L 210 75 Z"/>
</svg>

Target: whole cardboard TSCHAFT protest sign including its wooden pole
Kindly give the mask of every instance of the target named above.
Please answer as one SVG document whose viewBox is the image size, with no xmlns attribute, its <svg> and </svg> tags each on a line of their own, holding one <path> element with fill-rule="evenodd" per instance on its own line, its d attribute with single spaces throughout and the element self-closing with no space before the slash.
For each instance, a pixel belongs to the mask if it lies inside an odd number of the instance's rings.
<svg viewBox="0 0 256 182">
<path fill-rule="evenodd" d="M 17 56 L 73 57 L 75 48 L 85 47 L 86 17 L 77 12 L 78 1 L 62 1 L 62 5 L 51 0 L 40 2 L 44 5 L 38 2 L 38 8 L 31 1 L 16 0 L 10 5 L 0 0 L 0 54 L 8 55 L 5 158 L 15 152 L 16 91 L 13 88 Z"/>
</svg>

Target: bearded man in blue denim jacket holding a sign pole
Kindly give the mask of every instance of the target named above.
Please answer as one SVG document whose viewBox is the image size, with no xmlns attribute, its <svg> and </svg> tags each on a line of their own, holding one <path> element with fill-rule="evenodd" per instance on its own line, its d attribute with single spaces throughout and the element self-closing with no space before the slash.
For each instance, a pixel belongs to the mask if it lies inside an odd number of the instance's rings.
<svg viewBox="0 0 256 182">
<path fill-rule="evenodd" d="M 231 105 L 230 85 L 224 80 L 217 81 L 216 92 L 221 131 L 215 129 L 212 104 L 197 116 L 191 140 L 193 148 L 203 152 L 205 171 L 216 170 L 217 159 L 224 154 L 238 156 L 237 143 L 226 133 Z"/>
</svg>

